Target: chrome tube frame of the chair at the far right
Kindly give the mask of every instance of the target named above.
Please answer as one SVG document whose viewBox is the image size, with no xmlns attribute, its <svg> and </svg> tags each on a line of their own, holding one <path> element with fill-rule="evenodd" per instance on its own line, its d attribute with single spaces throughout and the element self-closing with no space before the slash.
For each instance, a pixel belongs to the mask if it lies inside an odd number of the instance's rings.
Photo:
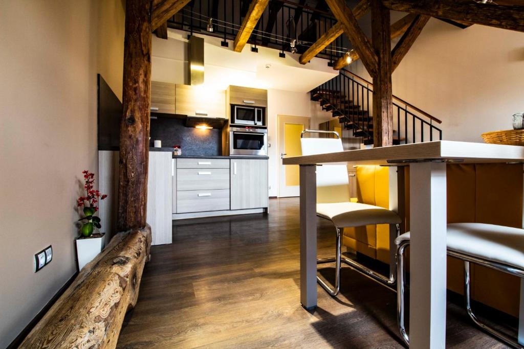
<svg viewBox="0 0 524 349">
<path fill-rule="evenodd" d="M 405 318 L 405 251 L 406 248 L 409 246 L 410 241 L 402 241 L 398 247 L 397 247 L 397 260 L 398 260 L 398 266 L 397 266 L 397 320 L 398 320 L 398 330 L 400 332 L 401 338 L 406 343 L 407 346 L 409 346 L 409 335 L 406 332 L 406 326 L 404 323 Z M 482 330 L 485 332 L 493 335 L 494 337 L 500 339 L 501 341 L 505 342 L 506 344 L 514 347 L 514 348 L 524 348 L 520 343 L 515 341 L 513 338 L 509 337 L 508 335 L 497 331 L 496 329 L 489 327 L 487 324 L 482 323 L 478 320 L 478 318 L 475 316 L 475 313 L 473 312 L 473 309 L 471 307 L 471 274 L 470 274 L 470 263 L 482 265 L 488 268 L 492 268 L 501 272 L 505 272 L 511 275 L 518 276 L 520 278 L 524 278 L 524 269 L 519 269 L 507 264 L 497 263 L 489 260 L 485 260 L 483 258 L 478 258 L 475 256 L 467 255 L 461 252 L 453 251 L 453 250 L 447 250 L 447 255 L 451 257 L 458 258 L 459 260 L 464 261 L 464 300 L 466 305 L 466 311 L 468 315 L 470 316 L 471 320 L 478 325 Z"/>
</svg>

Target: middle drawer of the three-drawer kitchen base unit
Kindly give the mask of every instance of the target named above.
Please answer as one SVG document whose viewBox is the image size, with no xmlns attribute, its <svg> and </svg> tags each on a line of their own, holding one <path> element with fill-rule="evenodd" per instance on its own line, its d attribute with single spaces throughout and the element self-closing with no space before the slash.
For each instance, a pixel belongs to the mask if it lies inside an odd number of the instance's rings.
<svg viewBox="0 0 524 349">
<path fill-rule="evenodd" d="M 177 190 L 229 189 L 229 168 L 178 168 Z"/>
</svg>

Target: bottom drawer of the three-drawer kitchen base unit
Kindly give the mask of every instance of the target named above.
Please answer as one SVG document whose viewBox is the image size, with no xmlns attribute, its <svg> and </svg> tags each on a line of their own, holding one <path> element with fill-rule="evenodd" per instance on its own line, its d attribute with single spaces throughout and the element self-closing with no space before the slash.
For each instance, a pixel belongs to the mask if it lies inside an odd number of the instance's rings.
<svg viewBox="0 0 524 349">
<path fill-rule="evenodd" d="M 177 213 L 230 209 L 229 189 L 185 190 L 177 194 Z"/>
</svg>

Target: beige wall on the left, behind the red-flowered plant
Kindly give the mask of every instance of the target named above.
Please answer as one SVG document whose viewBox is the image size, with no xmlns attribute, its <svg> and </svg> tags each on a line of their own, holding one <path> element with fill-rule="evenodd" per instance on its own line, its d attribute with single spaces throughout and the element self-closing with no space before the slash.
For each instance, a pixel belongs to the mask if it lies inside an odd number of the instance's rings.
<svg viewBox="0 0 524 349">
<path fill-rule="evenodd" d="M 96 170 L 96 73 L 122 94 L 121 0 L 0 2 L 0 347 L 74 274 L 75 199 Z M 53 261 L 34 273 L 48 245 Z"/>
</svg>

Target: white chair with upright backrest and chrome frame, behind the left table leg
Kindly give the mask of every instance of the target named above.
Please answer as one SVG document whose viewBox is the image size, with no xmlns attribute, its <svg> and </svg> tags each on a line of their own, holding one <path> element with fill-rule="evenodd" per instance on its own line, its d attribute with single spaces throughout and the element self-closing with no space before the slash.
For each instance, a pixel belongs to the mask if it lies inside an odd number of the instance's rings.
<svg viewBox="0 0 524 349">
<path fill-rule="evenodd" d="M 333 138 L 304 138 L 306 133 L 331 133 Z M 302 155 L 315 155 L 344 151 L 339 134 L 334 131 L 305 130 L 301 134 Z M 380 283 L 392 285 L 396 281 L 395 249 L 390 249 L 391 258 L 389 277 L 380 275 L 350 258 L 341 257 L 341 229 L 361 227 L 373 224 L 390 224 L 390 243 L 394 245 L 399 235 L 399 223 L 402 221 L 397 213 L 383 207 L 351 202 L 350 185 L 346 164 L 329 164 L 316 167 L 316 214 L 333 222 L 336 230 L 335 258 L 322 258 L 317 263 L 335 262 L 335 286 L 330 287 L 318 275 L 318 283 L 332 296 L 340 290 L 340 263 L 350 265 Z"/>
</svg>

